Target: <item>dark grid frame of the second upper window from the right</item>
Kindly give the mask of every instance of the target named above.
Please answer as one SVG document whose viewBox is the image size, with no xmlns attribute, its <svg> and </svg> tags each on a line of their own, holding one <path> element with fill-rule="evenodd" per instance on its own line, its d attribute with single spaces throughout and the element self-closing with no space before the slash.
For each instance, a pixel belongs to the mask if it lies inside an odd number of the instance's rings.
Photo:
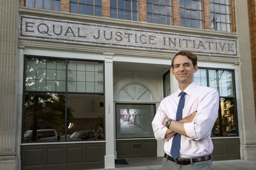
<svg viewBox="0 0 256 170">
<path fill-rule="evenodd" d="M 190 2 L 190 8 L 186 8 L 185 7 L 185 1 L 184 1 L 184 7 L 180 7 L 180 9 L 182 8 L 182 9 L 184 9 L 184 17 L 180 17 L 180 18 L 184 18 L 184 24 L 185 24 L 185 27 L 187 27 L 186 25 L 187 25 L 187 23 L 186 23 L 186 19 L 190 19 L 191 20 L 191 27 L 188 27 L 188 28 L 194 28 L 194 27 L 192 27 L 193 26 L 193 24 L 192 24 L 192 20 L 195 20 L 195 19 L 193 19 L 192 18 L 192 15 L 191 15 L 191 18 L 186 18 L 186 9 L 187 10 L 189 10 L 190 11 L 190 14 L 191 14 L 191 11 L 196 11 L 196 13 L 197 13 L 197 29 L 204 29 L 204 18 L 203 18 L 203 6 L 202 6 L 202 2 L 203 2 L 203 0 L 194 0 L 194 1 L 199 1 L 199 2 L 201 2 L 201 7 L 202 7 L 202 10 L 198 10 L 198 9 L 192 9 L 191 8 L 191 0 L 189 0 L 189 2 Z M 198 19 L 198 11 L 201 11 L 202 12 L 202 19 Z M 198 26 L 199 26 L 199 21 L 201 21 L 202 22 L 202 28 L 199 28 Z M 180 20 L 180 22 L 181 22 L 181 20 Z M 181 23 L 180 23 L 181 24 Z"/>
</svg>

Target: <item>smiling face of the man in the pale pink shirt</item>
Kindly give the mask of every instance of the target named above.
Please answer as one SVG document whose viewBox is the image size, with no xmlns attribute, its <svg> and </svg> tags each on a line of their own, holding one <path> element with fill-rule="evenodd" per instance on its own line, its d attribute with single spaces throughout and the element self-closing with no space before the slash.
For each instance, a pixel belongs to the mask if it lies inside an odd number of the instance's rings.
<svg viewBox="0 0 256 170">
<path fill-rule="evenodd" d="M 198 66 L 193 66 L 192 61 L 184 55 L 177 55 L 173 61 L 172 74 L 179 84 L 190 84 L 193 82 L 193 74 L 197 72 Z"/>
</svg>

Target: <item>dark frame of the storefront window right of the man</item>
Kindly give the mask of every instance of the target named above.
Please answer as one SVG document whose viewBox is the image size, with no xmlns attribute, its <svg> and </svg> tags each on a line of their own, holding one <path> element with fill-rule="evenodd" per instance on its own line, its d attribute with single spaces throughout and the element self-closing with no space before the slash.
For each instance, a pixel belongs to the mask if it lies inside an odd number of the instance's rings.
<svg viewBox="0 0 256 170">
<path fill-rule="evenodd" d="M 239 137 L 239 125 L 238 125 L 238 116 L 237 116 L 237 97 L 236 97 L 236 80 L 235 80 L 235 69 L 222 69 L 222 68 L 206 68 L 206 67 L 198 67 L 198 69 L 206 69 L 206 79 L 207 79 L 207 87 L 210 86 L 210 82 L 209 82 L 209 69 L 212 70 L 224 70 L 224 71 L 232 71 L 232 78 L 233 78 L 233 87 L 234 87 L 234 96 L 233 97 L 223 97 L 223 96 L 219 96 L 219 99 L 221 98 L 230 98 L 234 100 L 234 115 L 236 116 L 236 136 L 212 136 L 211 138 L 223 138 L 223 137 Z M 218 117 L 219 117 L 219 124 L 221 122 L 222 124 L 222 119 L 221 118 L 221 100 L 219 100 L 219 111 L 218 111 Z M 220 133 L 222 132 L 222 128 L 220 129 Z"/>
</svg>

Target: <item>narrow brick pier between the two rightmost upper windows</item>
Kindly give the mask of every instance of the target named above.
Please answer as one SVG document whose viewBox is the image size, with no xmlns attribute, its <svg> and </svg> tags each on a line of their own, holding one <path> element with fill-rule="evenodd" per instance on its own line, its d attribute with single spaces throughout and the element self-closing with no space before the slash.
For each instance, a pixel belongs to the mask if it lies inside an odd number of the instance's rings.
<svg viewBox="0 0 256 170">
<path fill-rule="evenodd" d="M 210 0 L 203 0 L 203 22 L 204 29 L 211 29 L 211 6 Z"/>
</svg>

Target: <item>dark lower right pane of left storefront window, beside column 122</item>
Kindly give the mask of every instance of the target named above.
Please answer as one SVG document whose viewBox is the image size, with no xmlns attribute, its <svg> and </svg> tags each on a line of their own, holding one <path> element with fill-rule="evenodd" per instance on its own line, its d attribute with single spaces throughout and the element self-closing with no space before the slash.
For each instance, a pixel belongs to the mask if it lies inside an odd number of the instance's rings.
<svg viewBox="0 0 256 170">
<path fill-rule="evenodd" d="M 67 141 L 99 139 L 99 125 L 104 129 L 104 95 L 69 93 L 67 104 L 73 111 L 67 126 Z M 104 139 L 104 134 L 100 139 Z"/>
</svg>

